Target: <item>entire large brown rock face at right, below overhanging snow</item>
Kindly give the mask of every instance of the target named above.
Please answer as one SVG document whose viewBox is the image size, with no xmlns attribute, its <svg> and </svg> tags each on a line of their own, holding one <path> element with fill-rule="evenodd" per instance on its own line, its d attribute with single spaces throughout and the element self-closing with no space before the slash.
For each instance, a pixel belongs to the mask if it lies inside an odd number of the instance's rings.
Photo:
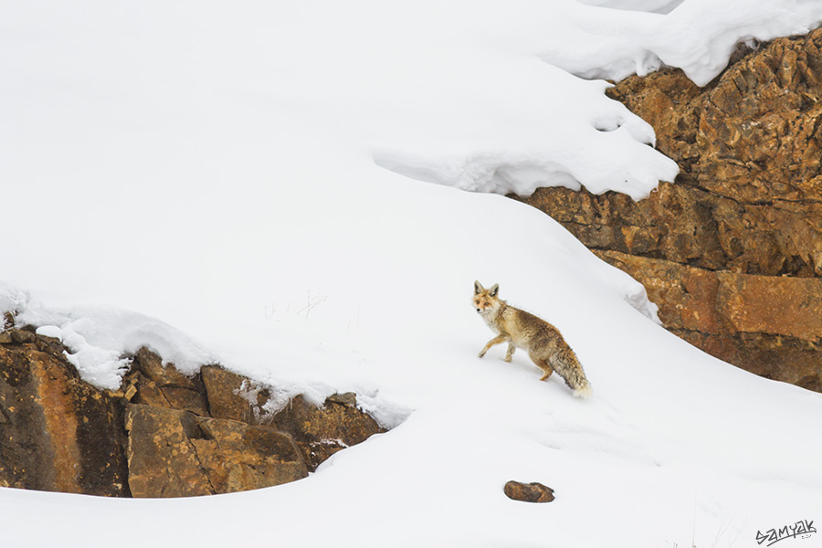
<svg viewBox="0 0 822 548">
<path fill-rule="evenodd" d="M 822 30 L 741 51 L 703 89 L 680 70 L 609 95 L 680 165 L 635 203 L 538 189 L 523 201 L 642 281 L 671 331 L 770 378 L 822 385 Z"/>
</svg>

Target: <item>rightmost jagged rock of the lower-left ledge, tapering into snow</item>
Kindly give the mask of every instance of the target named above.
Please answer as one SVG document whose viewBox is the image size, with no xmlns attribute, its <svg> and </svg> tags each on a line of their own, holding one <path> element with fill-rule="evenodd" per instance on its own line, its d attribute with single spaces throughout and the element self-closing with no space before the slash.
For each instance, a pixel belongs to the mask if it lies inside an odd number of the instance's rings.
<svg viewBox="0 0 822 548">
<path fill-rule="evenodd" d="M 297 440 L 311 470 L 337 451 L 385 432 L 374 418 L 356 407 L 355 399 L 352 404 L 351 396 L 344 395 L 345 403 L 339 403 L 339 396 L 331 396 L 324 406 L 317 407 L 298 395 L 274 416 L 273 424 Z"/>
</svg>

